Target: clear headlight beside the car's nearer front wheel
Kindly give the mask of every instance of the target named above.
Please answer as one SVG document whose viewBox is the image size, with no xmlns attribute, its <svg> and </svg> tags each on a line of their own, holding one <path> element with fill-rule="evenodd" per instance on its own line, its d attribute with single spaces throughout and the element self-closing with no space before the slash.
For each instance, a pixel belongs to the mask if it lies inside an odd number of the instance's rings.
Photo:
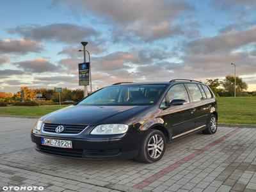
<svg viewBox="0 0 256 192">
<path fill-rule="evenodd" d="M 128 125 L 125 124 L 105 124 L 95 127 L 91 134 L 122 134 L 127 130 Z"/>
</svg>

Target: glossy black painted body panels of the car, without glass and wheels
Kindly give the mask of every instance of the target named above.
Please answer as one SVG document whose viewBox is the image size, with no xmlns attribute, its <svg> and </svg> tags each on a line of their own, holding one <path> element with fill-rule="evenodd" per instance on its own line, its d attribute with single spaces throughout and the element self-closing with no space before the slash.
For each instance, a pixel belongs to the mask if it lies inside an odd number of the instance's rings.
<svg viewBox="0 0 256 192">
<path fill-rule="evenodd" d="M 45 115 L 41 120 L 46 124 L 56 125 L 86 125 L 81 134 L 65 135 L 37 132 L 33 129 L 31 140 L 36 143 L 36 150 L 40 150 L 41 138 L 56 138 L 71 140 L 73 148 L 85 150 L 119 150 L 115 156 L 87 156 L 83 152 L 84 159 L 113 159 L 113 158 L 133 158 L 138 154 L 138 150 L 143 140 L 143 135 L 148 129 L 159 129 L 164 132 L 168 142 L 177 140 L 190 134 L 191 132 L 205 129 L 211 113 L 216 114 L 216 99 L 200 100 L 189 102 L 181 106 L 168 106 L 160 108 L 160 104 L 168 90 L 178 83 L 166 83 L 166 90 L 156 104 L 150 106 L 69 106 L 60 109 L 49 115 Z M 138 84 L 137 84 L 138 85 Z M 115 85 L 114 85 L 115 86 Z M 125 85 L 124 85 L 125 86 Z M 210 89 L 211 90 L 211 89 Z M 191 94 L 188 92 L 189 98 Z M 115 135 L 93 135 L 90 134 L 96 125 L 100 124 L 127 124 L 129 129 L 125 134 Z M 195 129 L 195 131 L 191 131 Z M 190 132 L 189 132 L 190 131 Z M 184 134 L 188 132 L 188 134 Z M 178 137 L 179 136 L 179 137 Z M 42 151 L 41 151 L 42 152 Z M 58 155 L 58 154 L 57 154 Z M 61 155 L 60 155 L 61 156 Z"/>
</svg>

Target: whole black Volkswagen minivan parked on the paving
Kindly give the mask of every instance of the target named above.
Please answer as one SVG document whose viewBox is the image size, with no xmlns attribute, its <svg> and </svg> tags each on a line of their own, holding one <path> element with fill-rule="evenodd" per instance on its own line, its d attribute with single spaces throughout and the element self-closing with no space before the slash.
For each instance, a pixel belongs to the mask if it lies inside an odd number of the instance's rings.
<svg viewBox="0 0 256 192">
<path fill-rule="evenodd" d="M 216 99 L 199 82 L 116 83 L 74 106 L 42 116 L 31 132 L 36 150 L 83 159 L 161 159 L 166 143 L 217 130 Z"/>
</svg>

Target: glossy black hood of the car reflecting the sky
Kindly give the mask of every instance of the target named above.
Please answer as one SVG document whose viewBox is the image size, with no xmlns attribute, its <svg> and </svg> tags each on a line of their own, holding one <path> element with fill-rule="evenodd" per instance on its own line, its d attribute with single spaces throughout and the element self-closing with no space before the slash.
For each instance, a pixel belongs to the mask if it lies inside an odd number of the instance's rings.
<svg viewBox="0 0 256 192">
<path fill-rule="evenodd" d="M 44 123 L 99 125 L 127 123 L 150 106 L 68 106 L 42 117 Z"/>
</svg>

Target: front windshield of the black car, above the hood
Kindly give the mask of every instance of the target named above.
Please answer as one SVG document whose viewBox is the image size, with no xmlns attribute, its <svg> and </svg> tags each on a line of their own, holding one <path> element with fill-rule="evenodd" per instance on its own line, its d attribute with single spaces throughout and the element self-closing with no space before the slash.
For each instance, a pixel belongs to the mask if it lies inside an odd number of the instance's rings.
<svg viewBox="0 0 256 192">
<path fill-rule="evenodd" d="M 147 106 L 156 103 L 165 88 L 165 84 L 109 86 L 81 100 L 78 105 Z"/>
</svg>

